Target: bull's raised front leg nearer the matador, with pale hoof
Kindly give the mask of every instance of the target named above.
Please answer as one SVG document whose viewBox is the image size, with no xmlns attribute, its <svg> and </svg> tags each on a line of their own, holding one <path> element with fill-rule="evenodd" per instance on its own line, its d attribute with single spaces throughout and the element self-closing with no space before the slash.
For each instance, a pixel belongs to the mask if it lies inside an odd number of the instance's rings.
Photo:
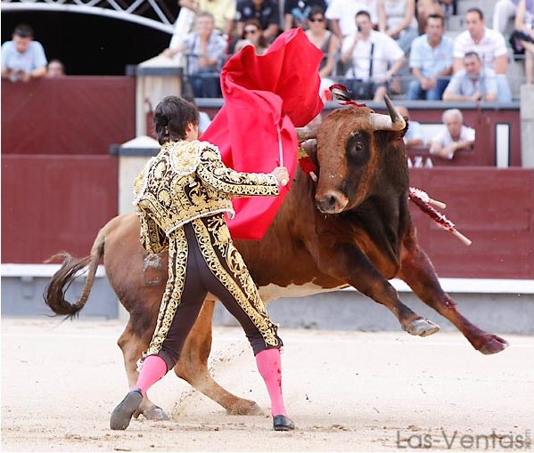
<svg viewBox="0 0 534 453">
<path fill-rule="evenodd" d="M 345 281 L 375 302 L 382 303 L 396 316 L 408 334 L 429 336 L 440 330 L 433 322 L 425 320 L 400 302 L 397 290 L 359 248 L 351 244 L 340 244 L 328 249 L 329 252 L 325 250 L 326 247 L 317 251 L 316 263 L 319 269 Z"/>
</svg>

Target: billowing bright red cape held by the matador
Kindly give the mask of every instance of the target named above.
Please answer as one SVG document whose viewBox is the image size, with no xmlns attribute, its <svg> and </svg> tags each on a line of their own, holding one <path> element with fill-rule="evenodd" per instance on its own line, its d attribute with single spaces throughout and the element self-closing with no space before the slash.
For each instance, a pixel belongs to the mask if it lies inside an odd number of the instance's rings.
<svg viewBox="0 0 534 453">
<path fill-rule="evenodd" d="M 264 55 L 245 46 L 222 70 L 225 104 L 201 140 L 218 146 L 226 166 L 256 173 L 270 173 L 279 165 L 281 142 L 290 174 L 278 197 L 234 199 L 235 217 L 228 222 L 234 238 L 261 239 L 291 188 L 297 167 L 295 126 L 307 125 L 323 109 L 317 72 L 322 58 L 304 32 L 293 28 Z"/>
</svg>

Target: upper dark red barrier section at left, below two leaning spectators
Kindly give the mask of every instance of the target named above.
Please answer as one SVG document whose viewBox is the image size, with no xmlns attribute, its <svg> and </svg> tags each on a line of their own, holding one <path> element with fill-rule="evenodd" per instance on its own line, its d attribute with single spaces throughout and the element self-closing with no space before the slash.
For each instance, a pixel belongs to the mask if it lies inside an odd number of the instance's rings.
<svg viewBox="0 0 534 453">
<path fill-rule="evenodd" d="M 134 77 L 2 80 L 2 152 L 101 154 L 136 136 Z"/>
</svg>

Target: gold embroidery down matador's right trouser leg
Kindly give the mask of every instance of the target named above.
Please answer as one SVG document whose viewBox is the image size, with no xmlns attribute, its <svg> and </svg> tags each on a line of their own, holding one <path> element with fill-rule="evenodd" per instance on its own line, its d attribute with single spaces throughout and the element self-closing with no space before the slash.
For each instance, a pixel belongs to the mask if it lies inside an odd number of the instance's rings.
<svg viewBox="0 0 534 453">
<path fill-rule="evenodd" d="M 208 226 L 201 219 L 196 219 L 192 225 L 209 270 L 234 296 L 242 310 L 258 328 L 265 343 L 269 346 L 281 346 L 280 338 L 276 335 L 276 326 L 269 319 L 265 305 L 259 297 L 258 288 L 241 254 L 234 247 L 224 218 L 221 215 L 213 216 L 208 219 Z M 214 245 L 218 247 L 233 275 L 230 275 L 219 261 Z"/>
</svg>

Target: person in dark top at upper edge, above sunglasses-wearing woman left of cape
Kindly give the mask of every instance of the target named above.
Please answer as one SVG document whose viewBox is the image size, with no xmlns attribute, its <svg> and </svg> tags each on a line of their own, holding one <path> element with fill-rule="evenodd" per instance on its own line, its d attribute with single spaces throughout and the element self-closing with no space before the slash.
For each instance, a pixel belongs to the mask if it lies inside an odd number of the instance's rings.
<svg viewBox="0 0 534 453">
<path fill-rule="evenodd" d="M 237 5 L 237 36 L 242 36 L 245 21 L 257 19 L 263 36 L 272 42 L 280 31 L 280 10 L 275 0 L 242 0 Z"/>
</svg>

